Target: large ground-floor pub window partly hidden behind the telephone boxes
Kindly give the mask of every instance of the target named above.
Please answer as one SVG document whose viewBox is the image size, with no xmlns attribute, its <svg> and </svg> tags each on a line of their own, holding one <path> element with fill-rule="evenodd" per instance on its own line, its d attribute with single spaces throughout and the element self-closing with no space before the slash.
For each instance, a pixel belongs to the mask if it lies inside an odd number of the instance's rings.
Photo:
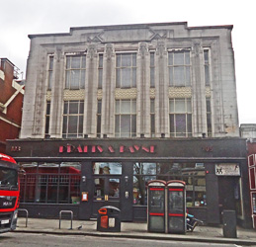
<svg viewBox="0 0 256 247">
<path fill-rule="evenodd" d="M 147 183 L 151 180 L 186 182 L 187 206 L 207 206 L 204 164 L 197 163 L 134 163 L 133 204 L 146 206 Z"/>
</svg>

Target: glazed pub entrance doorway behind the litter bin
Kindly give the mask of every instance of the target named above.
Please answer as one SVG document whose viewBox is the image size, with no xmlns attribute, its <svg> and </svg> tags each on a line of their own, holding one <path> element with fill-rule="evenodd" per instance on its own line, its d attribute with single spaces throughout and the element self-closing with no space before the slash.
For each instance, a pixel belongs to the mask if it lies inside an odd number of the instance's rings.
<svg viewBox="0 0 256 247">
<path fill-rule="evenodd" d="M 102 206 L 116 206 L 121 209 L 122 164 L 118 162 L 94 162 L 94 199 L 92 217 L 97 217 Z"/>
</svg>

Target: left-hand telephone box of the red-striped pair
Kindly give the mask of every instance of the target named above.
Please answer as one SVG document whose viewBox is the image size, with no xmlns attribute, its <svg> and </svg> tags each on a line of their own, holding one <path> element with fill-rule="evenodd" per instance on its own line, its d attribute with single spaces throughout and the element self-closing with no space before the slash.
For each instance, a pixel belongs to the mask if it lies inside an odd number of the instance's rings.
<svg viewBox="0 0 256 247">
<path fill-rule="evenodd" d="M 147 188 L 147 230 L 165 232 L 165 188 L 166 182 L 153 180 Z"/>
</svg>

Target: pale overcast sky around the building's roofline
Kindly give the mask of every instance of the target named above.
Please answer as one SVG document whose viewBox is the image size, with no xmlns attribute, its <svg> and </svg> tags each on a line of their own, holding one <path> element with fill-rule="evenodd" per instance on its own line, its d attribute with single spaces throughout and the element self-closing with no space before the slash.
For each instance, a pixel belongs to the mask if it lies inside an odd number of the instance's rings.
<svg viewBox="0 0 256 247">
<path fill-rule="evenodd" d="M 256 124 L 254 0 L 0 0 L 0 57 L 26 72 L 28 35 L 69 33 L 71 27 L 188 22 L 233 25 L 239 123 Z M 250 45 L 249 45 L 250 44 Z"/>
</svg>

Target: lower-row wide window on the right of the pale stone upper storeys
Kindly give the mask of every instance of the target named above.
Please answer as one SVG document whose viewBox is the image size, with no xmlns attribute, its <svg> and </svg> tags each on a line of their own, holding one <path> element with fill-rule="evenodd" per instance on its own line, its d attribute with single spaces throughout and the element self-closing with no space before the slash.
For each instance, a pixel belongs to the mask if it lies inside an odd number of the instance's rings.
<svg viewBox="0 0 256 247">
<path fill-rule="evenodd" d="M 192 107 L 191 99 L 170 99 L 170 136 L 192 136 Z"/>
</svg>

